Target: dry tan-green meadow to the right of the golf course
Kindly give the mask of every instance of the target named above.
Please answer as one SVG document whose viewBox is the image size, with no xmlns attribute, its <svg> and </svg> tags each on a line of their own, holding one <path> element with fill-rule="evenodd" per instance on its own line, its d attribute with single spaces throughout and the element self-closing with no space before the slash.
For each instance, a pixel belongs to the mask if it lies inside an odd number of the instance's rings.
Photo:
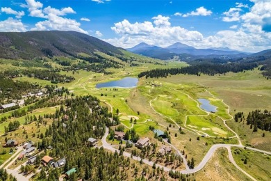
<svg viewBox="0 0 271 181">
<path fill-rule="evenodd" d="M 249 111 L 255 109 L 271 110 L 270 80 L 265 79 L 261 75 L 261 72 L 256 69 L 239 73 L 229 72 L 225 75 L 217 74 L 215 76 L 202 74 L 198 77 L 195 75 L 181 74 L 159 79 L 143 78 L 142 81 L 167 82 L 168 84 L 174 84 L 174 86 L 180 86 L 177 90 L 188 93 L 194 99 L 203 97 L 210 100 L 212 96 L 204 91 L 206 88 L 217 99 L 224 100 L 224 102 L 229 105 L 229 113 L 231 116 L 234 116 L 234 114 L 239 111 L 247 114 Z M 191 88 L 191 86 L 195 88 Z M 154 92 L 152 91 L 152 93 Z M 225 114 L 225 108 L 227 107 L 225 107 L 222 102 L 214 102 L 211 99 L 211 104 L 219 107 L 219 111 L 216 113 L 218 116 L 229 118 L 227 114 Z M 222 111 L 220 111 L 220 107 Z M 271 150 L 270 133 L 265 133 L 266 136 L 263 138 L 261 136 L 263 134 L 261 130 L 252 133 L 249 127 L 243 125 L 243 123 L 235 123 L 234 120 L 227 121 L 227 124 L 231 129 L 238 132 L 245 145 L 254 145 L 256 148 Z"/>
</svg>

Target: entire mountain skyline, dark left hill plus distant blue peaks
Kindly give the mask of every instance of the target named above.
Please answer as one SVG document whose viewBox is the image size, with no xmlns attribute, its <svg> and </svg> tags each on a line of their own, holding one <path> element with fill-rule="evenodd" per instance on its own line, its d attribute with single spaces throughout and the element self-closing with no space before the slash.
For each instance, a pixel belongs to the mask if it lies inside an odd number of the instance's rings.
<svg viewBox="0 0 271 181">
<path fill-rule="evenodd" d="M 168 47 L 148 45 L 144 42 L 136 45 L 130 52 L 168 60 L 179 58 L 182 61 L 192 61 L 199 58 L 243 58 L 253 56 L 271 56 L 267 49 L 256 54 L 238 52 L 229 48 L 196 49 L 180 42 Z M 96 57 L 95 52 L 103 52 L 112 56 L 123 56 L 124 49 L 115 47 L 98 38 L 75 31 L 28 31 L 0 32 L 0 58 L 32 59 L 43 56 L 77 56 L 85 53 Z"/>
</svg>

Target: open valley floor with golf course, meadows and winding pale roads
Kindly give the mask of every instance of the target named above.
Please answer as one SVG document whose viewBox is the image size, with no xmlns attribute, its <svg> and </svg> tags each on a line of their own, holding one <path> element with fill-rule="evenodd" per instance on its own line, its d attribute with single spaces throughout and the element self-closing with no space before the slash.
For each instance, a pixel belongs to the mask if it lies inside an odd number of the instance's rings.
<svg viewBox="0 0 271 181">
<path fill-rule="evenodd" d="M 98 97 L 101 104 L 108 107 L 113 114 L 119 111 L 120 123 L 124 125 L 125 131 L 135 129 L 141 138 L 149 137 L 158 145 L 162 142 L 154 139 L 154 132 L 149 127 L 170 132 L 171 143 L 168 145 L 183 158 L 183 168 L 177 171 L 183 174 L 194 173 L 191 177 L 196 180 L 270 180 L 271 164 L 268 161 L 271 159 L 271 133 L 265 132 L 263 138 L 262 130 L 252 134 L 248 125 L 233 120 L 234 113 L 240 111 L 246 114 L 254 109 L 271 110 L 271 86 L 258 70 L 212 77 L 176 75 L 160 79 L 142 78 L 136 88 L 95 88 L 97 83 L 136 77 L 142 69 L 147 67 L 142 65 L 141 68 L 130 67 L 121 71 L 110 69 L 115 73 L 109 75 L 79 71 L 74 74 L 75 81 L 58 86 L 65 86 L 75 95 Z M 17 79 L 37 81 L 29 77 Z M 38 83 L 49 84 L 43 80 L 38 80 Z M 217 112 L 212 113 L 200 108 L 199 98 L 208 100 L 217 107 Z M 38 113 L 51 113 L 55 110 L 56 107 L 40 109 Z M 0 118 L 2 116 L 0 115 Z M 24 123 L 24 117 L 17 120 Z M 5 125 L 8 125 L 8 122 L 0 124 L 1 133 Z M 26 126 L 25 129 L 31 128 Z M 40 129 L 44 132 L 44 128 Z M 22 129 L 18 129 L 18 136 L 21 131 Z M 14 134 L 10 134 L 10 137 Z M 3 142 L 3 139 L 4 137 L 1 137 L 0 141 Z M 163 141 L 167 144 L 166 140 Z M 111 145 L 112 143 L 108 141 L 107 130 L 101 139 L 101 145 L 115 152 L 114 146 L 119 143 Z M 131 152 L 124 152 L 124 156 L 131 157 Z M 244 157 L 249 157 L 251 162 L 240 162 Z M 15 161 L 15 157 L 11 158 Z M 140 161 L 140 157 L 132 158 Z M 190 169 L 187 162 L 192 158 L 195 159 L 195 168 Z M 8 157 L 3 162 L 7 159 Z M 261 167 L 256 160 L 262 160 L 267 166 Z M 152 166 L 155 160 L 145 158 L 142 162 Z M 1 166 L 8 168 L 6 164 L 5 162 Z M 156 166 L 161 166 L 167 172 L 171 170 L 162 164 Z"/>
</svg>

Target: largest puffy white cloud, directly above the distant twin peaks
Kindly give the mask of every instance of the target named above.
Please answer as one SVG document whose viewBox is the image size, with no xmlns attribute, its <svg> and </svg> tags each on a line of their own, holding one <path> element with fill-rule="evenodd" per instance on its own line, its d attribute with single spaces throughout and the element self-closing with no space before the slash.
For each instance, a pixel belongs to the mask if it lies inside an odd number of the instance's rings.
<svg viewBox="0 0 271 181">
<path fill-rule="evenodd" d="M 152 18 L 154 22 L 136 22 L 131 24 L 127 19 L 115 23 L 111 27 L 120 38 L 106 40 L 119 47 L 132 47 L 140 42 L 151 45 L 170 45 L 176 41 L 201 41 L 203 36 L 199 31 L 188 31 L 181 26 L 171 26 L 170 17 L 158 15 Z"/>
</svg>

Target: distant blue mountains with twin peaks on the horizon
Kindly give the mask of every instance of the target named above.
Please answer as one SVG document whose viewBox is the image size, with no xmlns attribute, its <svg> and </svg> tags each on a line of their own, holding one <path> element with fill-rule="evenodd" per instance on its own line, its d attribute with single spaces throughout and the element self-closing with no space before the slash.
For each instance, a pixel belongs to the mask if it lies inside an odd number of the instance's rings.
<svg viewBox="0 0 271 181">
<path fill-rule="evenodd" d="M 152 58 L 171 59 L 173 56 L 247 56 L 249 53 L 238 52 L 227 47 L 214 47 L 209 49 L 196 49 L 181 42 L 176 42 L 168 47 L 158 47 L 142 42 L 135 47 L 127 49 L 130 52 L 149 56 Z"/>
</svg>

